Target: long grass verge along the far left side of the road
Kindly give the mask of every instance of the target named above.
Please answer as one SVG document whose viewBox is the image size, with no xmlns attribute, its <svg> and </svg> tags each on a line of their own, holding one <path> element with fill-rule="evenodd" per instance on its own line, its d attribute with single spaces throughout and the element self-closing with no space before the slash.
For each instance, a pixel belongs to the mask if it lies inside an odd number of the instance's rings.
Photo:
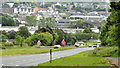
<svg viewBox="0 0 120 68">
<path fill-rule="evenodd" d="M 86 46 L 84 46 L 86 47 Z M 66 48 L 52 48 L 52 51 L 60 51 L 60 50 L 67 50 L 67 49 L 74 49 L 77 47 L 66 47 Z M 80 47 L 82 48 L 82 47 Z M 40 54 L 40 53 L 47 53 L 50 51 L 50 48 L 36 48 L 36 47 L 7 47 L 6 49 L 2 49 L 2 56 L 8 55 L 24 55 L 24 54 Z"/>
</svg>

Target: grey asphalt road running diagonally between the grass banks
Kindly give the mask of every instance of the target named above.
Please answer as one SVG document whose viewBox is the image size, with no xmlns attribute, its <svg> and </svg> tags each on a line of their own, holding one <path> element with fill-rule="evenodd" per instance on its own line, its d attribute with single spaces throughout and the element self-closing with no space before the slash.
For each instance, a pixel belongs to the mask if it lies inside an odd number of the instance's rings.
<svg viewBox="0 0 120 68">
<path fill-rule="evenodd" d="M 53 59 L 74 55 L 83 51 L 93 50 L 93 48 L 76 48 L 52 53 Z M 36 66 L 49 61 L 50 54 L 31 54 L 2 57 L 2 66 Z"/>
</svg>

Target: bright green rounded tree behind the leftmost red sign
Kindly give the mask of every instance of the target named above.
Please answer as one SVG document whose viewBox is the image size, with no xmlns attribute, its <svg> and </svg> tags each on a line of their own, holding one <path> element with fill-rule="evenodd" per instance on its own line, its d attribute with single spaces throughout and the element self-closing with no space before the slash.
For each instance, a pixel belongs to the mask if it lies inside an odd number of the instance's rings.
<svg viewBox="0 0 120 68">
<path fill-rule="evenodd" d="M 34 46 L 34 45 L 36 45 L 38 40 L 41 41 L 42 46 L 49 46 L 53 41 L 53 36 L 52 36 L 52 34 L 50 34 L 48 32 L 35 33 L 35 34 L 31 35 L 30 37 L 28 37 L 25 42 L 29 46 Z"/>
</svg>

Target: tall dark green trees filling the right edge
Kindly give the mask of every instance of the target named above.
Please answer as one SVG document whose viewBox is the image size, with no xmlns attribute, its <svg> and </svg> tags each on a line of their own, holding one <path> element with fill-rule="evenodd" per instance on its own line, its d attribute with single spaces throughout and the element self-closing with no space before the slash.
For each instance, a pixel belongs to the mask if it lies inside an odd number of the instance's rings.
<svg viewBox="0 0 120 68">
<path fill-rule="evenodd" d="M 111 14 L 101 29 L 103 46 L 120 46 L 120 1 L 111 2 Z"/>
</svg>

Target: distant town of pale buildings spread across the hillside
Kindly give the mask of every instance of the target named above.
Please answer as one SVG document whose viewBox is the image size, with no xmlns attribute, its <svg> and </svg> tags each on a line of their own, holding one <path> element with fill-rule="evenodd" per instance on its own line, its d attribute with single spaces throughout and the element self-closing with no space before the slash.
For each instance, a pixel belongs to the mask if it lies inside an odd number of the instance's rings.
<svg viewBox="0 0 120 68">
<path fill-rule="evenodd" d="M 99 33 L 98 27 L 104 24 L 110 14 L 108 5 L 102 2 L 0 2 L 0 17 L 7 14 L 17 22 L 15 25 L 6 25 L 2 21 L 0 30 L 18 31 L 20 26 L 27 26 L 29 32 L 34 34 L 39 26 L 45 27 L 49 23 L 52 28 L 62 29 L 66 33 L 83 31 L 85 27 Z M 30 16 L 36 17 L 35 23 L 28 23 L 27 17 Z M 53 20 L 49 21 L 50 18 Z M 80 20 L 87 25 L 77 26 Z"/>
</svg>

